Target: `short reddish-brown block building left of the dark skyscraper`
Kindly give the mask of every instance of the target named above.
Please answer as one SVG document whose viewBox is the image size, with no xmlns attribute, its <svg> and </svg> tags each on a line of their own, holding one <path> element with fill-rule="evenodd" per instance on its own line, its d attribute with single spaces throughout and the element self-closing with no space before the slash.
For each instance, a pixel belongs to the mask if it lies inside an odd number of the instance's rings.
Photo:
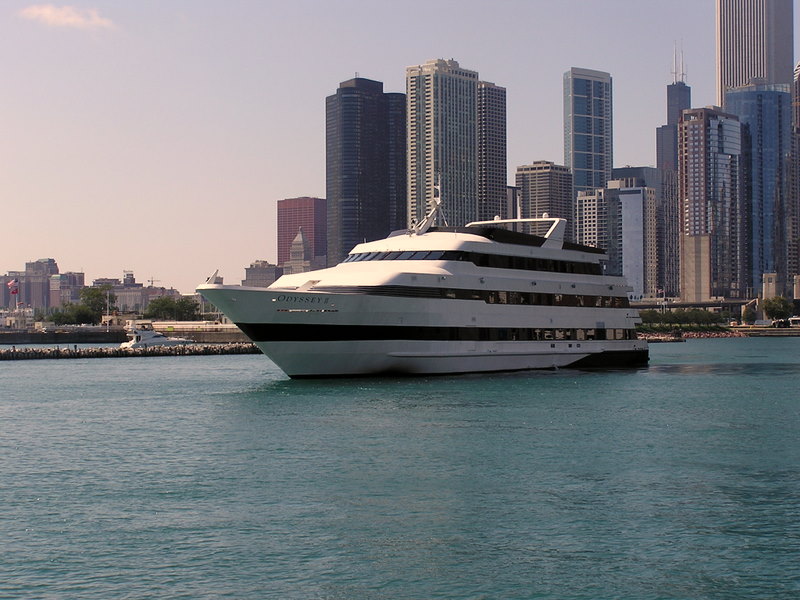
<svg viewBox="0 0 800 600">
<path fill-rule="evenodd" d="M 327 254 L 327 203 L 324 198 L 278 200 L 278 264 L 289 260 L 292 241 L 302 228 L 313 257 Z"/>
</svg>

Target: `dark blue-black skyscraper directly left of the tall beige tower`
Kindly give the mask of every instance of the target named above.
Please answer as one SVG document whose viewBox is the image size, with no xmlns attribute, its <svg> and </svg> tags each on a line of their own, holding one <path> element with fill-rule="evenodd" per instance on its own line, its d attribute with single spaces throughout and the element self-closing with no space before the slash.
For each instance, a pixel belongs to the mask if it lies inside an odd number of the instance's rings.
<svg viewBox="0 0 800 600">
<path fill-rule="evenodd" d="M 385 94 L 383 83 L 361 77 L 342 82 L 326 99 L 329 265 L 356 244 L 400 226 L 405 119 L 399 111 L 404 104 L 403 94 Z"/>
</svg>

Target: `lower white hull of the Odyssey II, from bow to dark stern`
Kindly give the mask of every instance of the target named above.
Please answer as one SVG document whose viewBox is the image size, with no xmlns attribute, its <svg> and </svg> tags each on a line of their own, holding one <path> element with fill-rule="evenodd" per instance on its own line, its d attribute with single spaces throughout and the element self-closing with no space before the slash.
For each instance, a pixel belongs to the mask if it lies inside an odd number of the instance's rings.
<svg viewBox="0 0 800 600">
<path fill-rule="evenodd" d="M 201 286 L 200 291 L 293 378 L 622 368 L 644 366 L 648 360 L 641 340 L 577 339 L 584 334 L 576 332 L 594 332 L 600 325 L 592 308 L 223 285 Z M 622 322 L 626 312 L 604 309 L 603 318 L 617 313 Z M 569 329 L 554 328 L 553 323 L 567 318 Z"/>
</svg>

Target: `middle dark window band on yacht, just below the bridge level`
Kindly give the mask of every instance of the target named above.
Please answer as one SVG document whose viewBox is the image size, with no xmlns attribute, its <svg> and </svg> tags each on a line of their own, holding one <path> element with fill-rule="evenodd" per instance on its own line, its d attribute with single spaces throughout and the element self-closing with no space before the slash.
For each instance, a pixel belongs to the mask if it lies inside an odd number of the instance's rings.
<svg viewBox="0 0 800 600">
<path fill-rule="evenodd" d="M 364 294 L 401 298 L 446 298 L 450 300 L 480 300 L 486 304 L 517 306 L 574 306 L 588 308 L 630 308 L 627 296 L 590 296 L 586 294 L 546 294 L 503 290 L 467 290 L 459 288 L 381 286 L 315 286 L 314 292 L 330 294 Z"/>
</svg>

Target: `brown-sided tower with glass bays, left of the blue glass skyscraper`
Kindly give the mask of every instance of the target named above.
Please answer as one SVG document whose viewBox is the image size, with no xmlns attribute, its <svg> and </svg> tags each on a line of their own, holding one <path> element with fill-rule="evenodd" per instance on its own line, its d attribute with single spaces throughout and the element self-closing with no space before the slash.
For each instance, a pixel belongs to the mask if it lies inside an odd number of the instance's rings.
<svg viewBox="0 0 800 600">
<path fill-rule="evenodd" d="M 678 148 L 681 299 L 744 298 L 747 213 L 740 181 L 741 124 L 717 108 L 685 110 Z"/>
</svg>

